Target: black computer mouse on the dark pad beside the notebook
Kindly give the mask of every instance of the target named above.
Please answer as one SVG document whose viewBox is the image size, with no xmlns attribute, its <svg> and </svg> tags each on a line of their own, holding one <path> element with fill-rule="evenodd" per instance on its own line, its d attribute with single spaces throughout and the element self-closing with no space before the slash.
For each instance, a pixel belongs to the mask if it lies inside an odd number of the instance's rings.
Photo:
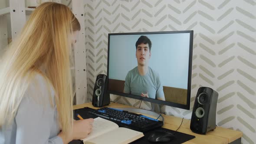
<svg viewBox="0 0 256 144">
<path fill-rule="evenodd" d="M 167 131 L 154 131 L 148 135 L 149 142 L 168 142 L 175 139 L 176 136 Z"/>
</svg>

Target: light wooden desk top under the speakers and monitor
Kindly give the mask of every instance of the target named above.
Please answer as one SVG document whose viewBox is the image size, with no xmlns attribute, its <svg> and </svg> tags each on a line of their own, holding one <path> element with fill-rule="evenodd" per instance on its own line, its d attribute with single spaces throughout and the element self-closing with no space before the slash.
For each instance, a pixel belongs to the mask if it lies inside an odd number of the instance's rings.
<svg viewBox="0 0 256 144">
<path fill-rule="evenodd" d="M 95 108 L 92 106 L 92 103 L 85 103 L 82 105 L 74 105 L 74 109 L 79 108 Z M 111 108 L 132 108 L 128 105 L 121 105 L 118 103 L 110 103 L 110 105 L 106 107 Z M 97 108 L 95 108 L 97 109 Z M 164 116 L 164 126 L 163 128 L 171 129 L 176 131 L 177 128 L 181 124 L 182 118 L 177 118 L 170 115 L 163 115 Z M 240 131 L 233 131 L 226 128 L 217 127 L 214 131 L 207 132 L 206 135 L 196 134 L 190 130 L 190 120 L 184 119 L 181 125 L 181 128 L 178 130 L 179 132 L 190 134 L 196 136 L 196 138 L 186 141 L 183 144 L 241 144 L 241 137 L 242 132 Z"/>
</svg>

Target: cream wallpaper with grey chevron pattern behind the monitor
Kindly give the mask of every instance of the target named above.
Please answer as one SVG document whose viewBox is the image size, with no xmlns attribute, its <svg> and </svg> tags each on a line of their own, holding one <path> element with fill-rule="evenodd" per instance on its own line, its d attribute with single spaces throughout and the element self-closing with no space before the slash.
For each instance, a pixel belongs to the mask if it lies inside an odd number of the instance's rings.
<svg viewBox="0 0 256 144">
<path fill-rule="evenodd" d="M 66 0 L 70 6 L 70 0 Z M 217 125 L 256 142 L 255 0 L 84 0 L 88 96 L 96 76 L 107 73 L 108 33 L 194 30 L 190 111 L 163 107 L 191 118 L 197 89 L 219 93 Z M 139 101 L 112 95 L 112 101 Z M 148 104 L 145 104 L 147 107 Z"/>
</svg>

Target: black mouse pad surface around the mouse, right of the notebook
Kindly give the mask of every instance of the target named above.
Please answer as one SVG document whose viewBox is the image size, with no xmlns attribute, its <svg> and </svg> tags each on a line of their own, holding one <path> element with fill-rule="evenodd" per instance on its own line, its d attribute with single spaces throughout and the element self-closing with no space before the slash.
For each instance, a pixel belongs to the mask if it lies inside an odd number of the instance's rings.
<svg viewBox="0 0 256 144">
<path fill-rule="evenodd" d="M 190 135 L 190 134 L 184 134 L 184 133 L 181 133 L 181 132 L 175 132 L 175 138 L 169 142 L 149 142 L 147 140 L 147 135 L 150 134 L 151 132 L 153 131 L 167 131 L 167 132 L 170 132 L 172 134 L 174 134 L 175 131 L 172 131 L 172 130 L 169 130 L 169 129 L 166 129 L 166 128 L 156 128 L 154 130 L 151 130 L 151 131 L 147 131 L 147 132 L 144 132 L 143 134 L 145 135 L 144 137 L 141 137 L 140 139 L 132 142 L 131 144 L 182 144 L 186 141 L 189 141 L 193 138 L 195 138 L 194 135 Z"/>
</svg>

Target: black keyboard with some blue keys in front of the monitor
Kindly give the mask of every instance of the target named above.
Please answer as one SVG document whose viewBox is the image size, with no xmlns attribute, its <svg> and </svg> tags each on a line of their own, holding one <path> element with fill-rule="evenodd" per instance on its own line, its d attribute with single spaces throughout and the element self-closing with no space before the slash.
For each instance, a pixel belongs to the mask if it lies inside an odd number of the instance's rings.
<svg viewBox="0 0 256 144">
<path fill-rule="evenodd" d="M 116 108 L 100 108 L 96 110 L 86 107 L 83 111 L 86 111 L 86 113 L 89 113 L 91 115 L 95 115 L 95 117 L 98 116 L 113 121 L 118 124 L 119 127 L 125 127 L 141 132 L 150 131 L 154 128 L 159 128 L 164 124 L 163 121 L 159 121 L 154 118 L 149 118 L 147 116 L 138 115 L 128 111 L 119 110 Z"/>
</svg>

